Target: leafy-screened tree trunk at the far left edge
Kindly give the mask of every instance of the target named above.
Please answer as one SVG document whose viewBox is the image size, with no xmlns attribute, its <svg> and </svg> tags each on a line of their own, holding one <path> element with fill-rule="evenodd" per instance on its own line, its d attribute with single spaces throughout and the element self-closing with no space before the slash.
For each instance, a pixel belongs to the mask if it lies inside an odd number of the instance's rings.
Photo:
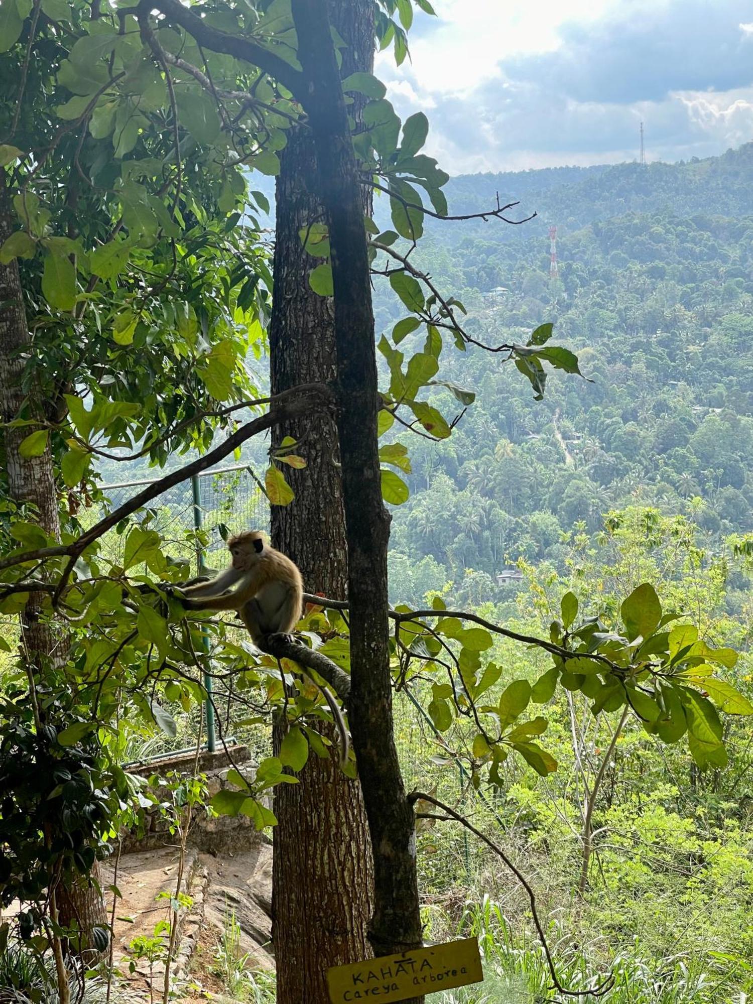
<svg viewBox="0 0 753 1004">
<path fill-rule="evenodd" d="M 9 192 L 0 181 L 0 246 L 15 229 Z M 32 344 L 16 260 L 9 265 L 0 265 L 0 421 L 41 419 L 43 408 L 35 383 L 23 380 Z M 8 494 L 27 507 L 27 520 L 37 522 L 45 533 L 59 541 L 60 518 L 49 443 L 38 457 L 24 458 L 19 452 L 22 440 L 32 430 L 33 426 L 4 430 Z M 45 671 L 59 670 L 68 650 L 67 635 L 61 630 L 61 624 L 53 624 L 48 618 L 40 616 L 43 602 L 40 597 L 40 593 L 32 593 L 21 616 L 21 641 L 30 687 L 44 678 Z M 89 886 L 88 880 L 82 876 L 69 887 L 59 885 L 55 897 L 60 923 L 66 927 L 76 917 L 80 918 L 83 944 L 91 946 L 92 926 L 107 927 L 98 888 Z M 92 953 L 90 948 L 86 954 L 87 962 L 98 955 Z"/>
</svg>

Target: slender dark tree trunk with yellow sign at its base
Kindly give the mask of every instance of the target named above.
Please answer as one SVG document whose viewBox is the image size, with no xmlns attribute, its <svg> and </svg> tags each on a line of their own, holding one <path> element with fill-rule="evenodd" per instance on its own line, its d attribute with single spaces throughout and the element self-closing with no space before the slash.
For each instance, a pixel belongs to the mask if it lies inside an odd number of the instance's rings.
<svg viewBox="0 0 753 1004">
<path fill-rule="evenodd" d="M 387 611 L 390 519 L 382 501 L 381 399 L 371 290 L 355 155 L 326 6 L 292 0 L 298 59 L 332 250 L 337 430 L 350 613 L 350 729 L 373 850 L 375 955 L 422 944 L 413 808 L 395 746 Z"/>
</svg>

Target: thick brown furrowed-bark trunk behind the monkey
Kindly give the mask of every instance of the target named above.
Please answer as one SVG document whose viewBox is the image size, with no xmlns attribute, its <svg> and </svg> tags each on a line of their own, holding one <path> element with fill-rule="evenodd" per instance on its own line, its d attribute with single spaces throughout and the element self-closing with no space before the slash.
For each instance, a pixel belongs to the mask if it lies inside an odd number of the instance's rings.
<svg viewBox="0 0 753 1004">
<path fill-rule="evenodd" d="M 344 73 L 370 71 L 370 0 L 330 0 L 337 30 L 348 43 Z M 308 285 L 318 262 L 299 231 L 320 219 L 312 196 L 316 164 L 310 137 L 292 132 L 282 153 L 276 193 L 275 295 L 269 340 L 272 394 L 336 378 L 331 302 Z M 289 470 L 295 500 L 272 509 L 272 539 L 298 564 L 309 591 L 346 595 L 347 545 L 337 430 L 328 415 L 296 421 L 285 432 L 299 439 L 307 467 Z M 279 433 L 273 442 L 277 445 Z M 279 749 L 285 724 L 274 727 Z M 330 736 L 333 730 L 330 730 Z M 297 785 L 275 789 L 273 928 L 278 1004 L 327 1004 L 330 966 L 370 955 L 371 859 L 360 786 L 333 760 L 311 756 Z"/>
</svg>

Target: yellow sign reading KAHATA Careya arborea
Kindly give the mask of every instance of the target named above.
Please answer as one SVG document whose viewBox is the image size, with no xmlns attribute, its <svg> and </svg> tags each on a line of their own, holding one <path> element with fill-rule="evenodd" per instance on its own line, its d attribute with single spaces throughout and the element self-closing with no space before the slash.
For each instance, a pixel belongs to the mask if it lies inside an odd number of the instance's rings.
<svg viewBox="0 0 753 1004">
<path fill-rule="evenodd" d="M 405 1001 L 411 997 L 481 983 L 479 945 L 475 938 L 418 948 L 402 955 L 384 955 L 350 966 L 327 970 L 332 1004 L 353 1001 Z"/>
</svg>

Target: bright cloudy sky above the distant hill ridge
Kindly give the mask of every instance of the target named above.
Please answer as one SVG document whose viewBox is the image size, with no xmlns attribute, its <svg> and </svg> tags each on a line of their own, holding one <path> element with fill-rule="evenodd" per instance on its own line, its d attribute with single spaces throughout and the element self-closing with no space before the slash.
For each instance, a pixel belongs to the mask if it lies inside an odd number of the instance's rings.
<svg viewBox="0 0 753 1004">
<path fill-rule="evenodd" d="M 433 0 L 378 58 L 451 174 L 708 157 L 753 140 L 753 0 Z"/>
</svg>

